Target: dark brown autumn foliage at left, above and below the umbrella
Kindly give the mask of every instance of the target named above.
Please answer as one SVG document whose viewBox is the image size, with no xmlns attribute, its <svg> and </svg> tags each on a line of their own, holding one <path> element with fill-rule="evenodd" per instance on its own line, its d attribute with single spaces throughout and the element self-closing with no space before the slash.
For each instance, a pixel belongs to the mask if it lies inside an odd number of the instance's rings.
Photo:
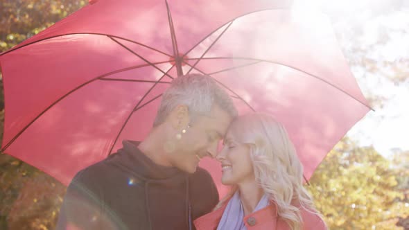
<svg viewBox="0 0 409 230">
<path fill-rule="evenodd" d="M 78 0 L 0 0 L 0 52 L 85 6 Z M 0 69 L 1 71 L 1 69 Z M 0 139 L 4 96 L 0 73 Z M 65 187 L 28 164 L 0 154 L 0 229 L 54 229 Z"/>
</svg>

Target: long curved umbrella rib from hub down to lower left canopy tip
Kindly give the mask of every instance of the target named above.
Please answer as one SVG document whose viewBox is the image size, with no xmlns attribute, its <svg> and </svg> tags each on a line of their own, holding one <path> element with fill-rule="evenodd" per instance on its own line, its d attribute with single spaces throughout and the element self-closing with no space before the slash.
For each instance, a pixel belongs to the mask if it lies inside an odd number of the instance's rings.
<svg viewBox="0 0 409 230">
<path fill-rule="evenodd" d="M 167 61 L 166 61 L 167 62 Z M 159 63 L 164 63 L 164 62 L 156 62 L 155 64 L 159 64 Z M 63 96 L 61 96 L 60 98 L 58 98 L 57 100 L 55 100 L 51 105 L 49 105 L 49 107 L 46 107 L 46 109 L 44 109 L 40 114 L 38 114 L 33 121 L 31 121 L 30 123 L 28 123 L 23 129 L 20 130 L 20 132 L 18 132 L 10 141 L 8 141 L 8 143 L 6 145 L 4 145 L 1 148 L 1 152 L 5 151 L 21 134 L 23 134 L 24 131 L 26 131 L 28 129 L 28 127 L 30 127 L 35 121 L 37 121 L 38 118 L 40 118 L 40 116 L 42 116 L 44 113 L 46 113 L 49 109 L 51 109 L 51 107 L 53 107 L 55 104 L 59 103 L 62 99 L 66 98 L 67 96 L 69 96 L 70 94 L 72 94 L 73 92 L 77 91 L 78 89 L 85 87 L 85 85 L 89 85 L 90 83 L 96 81 L 96 80 L 102 80 L 101 78 L 104 78 L 106 76 L 110 76 L 112 74 L 115 73 L 121 73 L 123 71 L 128 71 L 130 69 L 137 69 L 140 67 L 148 67 L 150 66 L 150 64 L 141 64 L 141 65 L 137 65 L 137 66 L 133 66 L 133 67 L 127 67 L 127 68 L 123 68 L 123 69 L 118 69 L 116 71 L 112 71 L 110 73 L 105 73 L 101 76 L 98 76 L 96 78 L 93 78 L 87 82 L 84 82 L 82 85 L 79 85 L 78 87 L 76 87 L 75 89 L 72 89 L 71 91 L 69 91 L 67 94 L 64 94 Z"/>
</svg>

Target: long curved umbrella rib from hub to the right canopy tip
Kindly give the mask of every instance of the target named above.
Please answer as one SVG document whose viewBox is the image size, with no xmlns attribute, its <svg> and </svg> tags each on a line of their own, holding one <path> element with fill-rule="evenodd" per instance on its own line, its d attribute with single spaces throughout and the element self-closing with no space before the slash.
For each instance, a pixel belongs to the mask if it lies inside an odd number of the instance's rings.
<svg viewBox="0 0 409 230">
<path fill-rule="evenodd" d="M 336 85 L 333 85 L 331 82 L 328 82 L 327 80 L 324 80 L 324 79 L 322 79 L 322 78 L 320 78 L 320 77 L 318 77 L 318 76 L 315 76 L 315 75 L 312 74 L 312 73 L 308 73 L 308 72 L 306 72 L 306 71 L 303 71 L 302 69 L 298 69 L 297 67 L 293 67 L 293 66 L 290 66 L 290 65 L 288 65 L 288 64 L 283 64 L 283 63 L 280 63 L 280 62 L 273 62 L 273 61 L 270 61 L 270 60 L 263 60 L 263 59 L 258 59 L 258 58 L 252 58 L 252 57 L 204 57 L 204 58 L 202 58 L 201 60 L 218 60 L 218 59 L 254 60 L 254 61 L 260 61 L 260 62 L 268 62 L 268 63 L 272 63 L 272 64 L 279 64 L 279 65 L 281 65 L 281 66 L 288 67 L 288 68 L 290 68 L 290 69 L 295 69 L 295 70 L 297 70 L 297 71 L 299 71 L 299 72 L 302 72 L 302 73 L 305 73 L 306 75 L 311 76 L 311 77 L 313 77 L 313 78 L 315 78 L 315 79 L 317 79 L 317 80 L 320 80 L 320 81 L 326 83 L 327 85 L 330 85 L 331 87 L 334 87 L 334 88 L 338 89 L 339 91 L 341 91 L 342 93 L 346 94 L 346 95 L 349 96 L 350 98 L 356 100 L 358 103 L 364 105 L 364 106 L 367 107 L 368 109 L 371 109 L 372 111 L 375 111 L 372 107 L 370 107 L 369 105 L 366 105 L 365 103 L 361 102 L 360 100 L 358 100 L 357 98 L 355 98 L 354 96 L 352 96 L 351 94 L 349 94 L 349 93 L 348 93 L 347 91 L 345 91 L 344 89 L 341 89 L 340 87 L 337 87 Z M 198 58 L 187 58 L 186 60 L 198 60 Z"/>
</svg>

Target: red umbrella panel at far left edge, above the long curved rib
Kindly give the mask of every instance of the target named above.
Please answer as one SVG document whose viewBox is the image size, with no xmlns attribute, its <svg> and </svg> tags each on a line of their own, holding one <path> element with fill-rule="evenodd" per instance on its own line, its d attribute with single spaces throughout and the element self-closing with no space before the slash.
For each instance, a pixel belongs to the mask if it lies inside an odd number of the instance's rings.
<svg viewBox="0 0 409 230">
<path fill-rule="evenodd" d="M 99 35 L 56 37 L 0 58 L 7 111 L 3 146 L 73 89 L 112 71 L 147 64 Z"/>
</svg>

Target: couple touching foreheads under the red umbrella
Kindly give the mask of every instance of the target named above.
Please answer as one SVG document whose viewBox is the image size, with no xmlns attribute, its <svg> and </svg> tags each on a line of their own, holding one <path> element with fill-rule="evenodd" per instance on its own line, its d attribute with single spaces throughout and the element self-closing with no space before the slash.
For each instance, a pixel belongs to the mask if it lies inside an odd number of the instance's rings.
<svg viewBox="0 0 409 230">
<path fill-rule="evenodd" d="M 218 143 L 223 148 L 218 152 Z M 219 201 L 203 157 L 220 161 L 232 191 Z M 173 80 L 146 139 L 78 172 L 57 229 L 326 229 L 302 186 L 284 127 L 237 116 L 209 76 Z"/>
</svg>

